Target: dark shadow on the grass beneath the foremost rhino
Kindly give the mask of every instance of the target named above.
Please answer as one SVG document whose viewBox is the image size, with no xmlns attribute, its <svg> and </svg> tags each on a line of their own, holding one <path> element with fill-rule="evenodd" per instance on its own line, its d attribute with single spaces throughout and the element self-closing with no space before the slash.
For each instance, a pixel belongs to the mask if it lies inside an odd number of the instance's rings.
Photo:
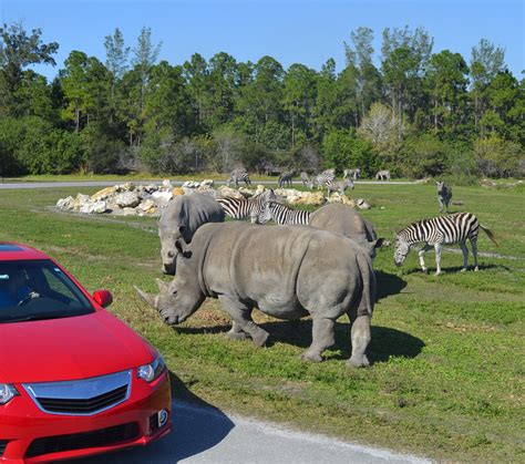
<svg viewBox="0 0 525 464">
<path fill-rule="evenodd" d="M 300 319 L 294 321 L 276 321 L 259 324 L 269 334 L 267 347 L 275 343 L 287 343 L 298 348 L 307 349 L 311 344 L 310 319 Z M 177 328 L 175 330 L 183 333 L 205 334 L 227 332 L 230 326 L 217 326 L 213 328 Z M 350 342 L 350 322 L 338 322 L 336 324 L 336 344 L 333 353 L 328 354 L 327 359 L 348 359 L 351 354 Z M 251 343 L 248 338 L 237 343 Z M 385 362 L 391 357 L 394 358 L 415 358 L 421 353 L 424 347 L 423 340 L 411 336 L 410 333 L 388 327 L 373 326 L 372 319 L 372 341 L 367 350 L 371 363 Z"/>
</svg>

